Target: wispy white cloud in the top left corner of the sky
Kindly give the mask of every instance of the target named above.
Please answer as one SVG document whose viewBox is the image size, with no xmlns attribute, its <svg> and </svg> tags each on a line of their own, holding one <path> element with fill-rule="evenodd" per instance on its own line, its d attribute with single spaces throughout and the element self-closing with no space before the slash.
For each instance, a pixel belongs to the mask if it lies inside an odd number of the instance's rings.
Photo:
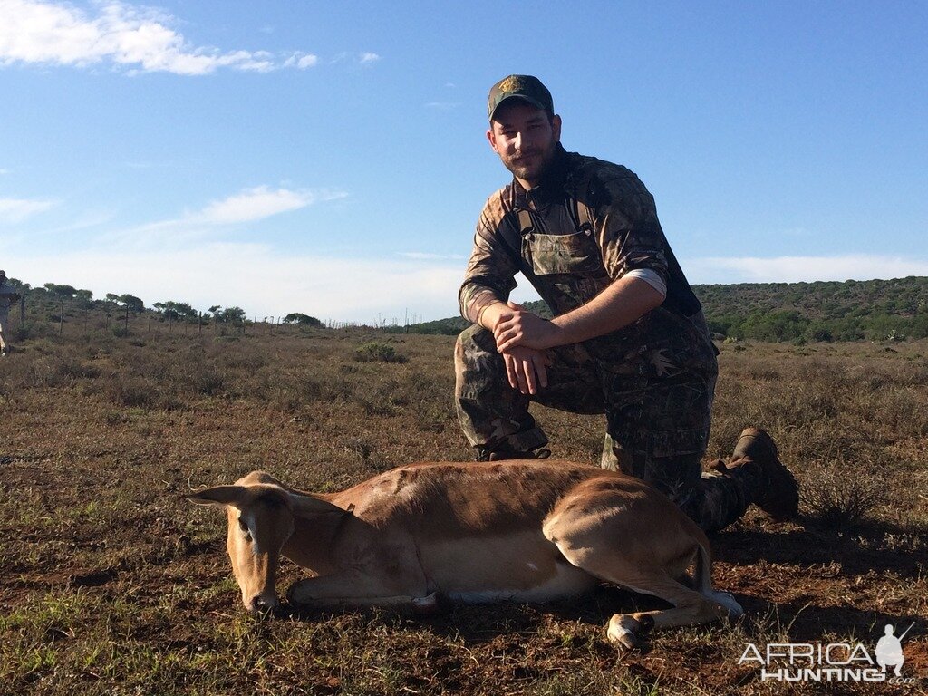
<svg viewBox="0 0 928 696">
<path fill-rule="evenodd" d="M 0 16 L 0 66 L 110 64 L 130 73 L 203 75 L 220 68 L 267 72 L 315 65 L 315 57 L 305 53 L 284 58 L 190 45 L 171 28 L 179 22 L 170 15 L 121 2 L 97 5 L 97 15 L 88 17 L 80 8 L 49 0 L 0 0 Z"/>
</svg>

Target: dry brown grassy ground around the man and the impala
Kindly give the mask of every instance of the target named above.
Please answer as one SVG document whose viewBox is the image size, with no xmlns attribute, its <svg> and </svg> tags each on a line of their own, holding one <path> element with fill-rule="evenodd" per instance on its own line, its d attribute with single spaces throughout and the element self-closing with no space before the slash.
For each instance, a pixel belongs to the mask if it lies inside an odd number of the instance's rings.
<svg viewBox="0 0 928 696">
<path fill-rule="evenodd" d="M 375 343 L 406 362 L 358 361 Z M 804 518 L 716 535 L 735 624 L 655 634 L 619 657 L 602 625 L 654 606 L 613 588 L 556 605 L 245 615 L 225 522 L 189 487 L 266 469 L 335 490 L 422 459 L 470 458 L 453 340 L 35 332 L 0 362 L 0 690 L 10 693 L 773 694 L 747 642 L 861 640 L 909 625 L 928 677 L 928 345 L 726 345 L 710 454 L 767 428 Z M 378 349 L 382 351 L 382 349 Z M 385 353 L 390 353 L 386 351 Z M 596 461 L 602 419 L 540 409 L 559 458 Z M 299 577 L 288 565 L 280 584 Z M 834 685 L 796 692 L 833 693 Z M 917 693 L 879 684 L 847 693 Z"/>
</svg>

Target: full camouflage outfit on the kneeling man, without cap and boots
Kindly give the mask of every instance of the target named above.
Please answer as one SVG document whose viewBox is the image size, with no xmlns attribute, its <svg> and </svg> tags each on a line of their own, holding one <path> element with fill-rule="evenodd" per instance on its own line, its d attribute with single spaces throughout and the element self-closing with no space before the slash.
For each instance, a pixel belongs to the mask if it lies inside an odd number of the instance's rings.
<svg viewBox="0 0 928 696">
<path fill-rule="evenodd" d="M 548 387 L 509 386 L 481 309 L 507 301 L 517 272 L 555 316 L 589 302 L 633 269 L 664 279 L 663 305 L 625 329 L 548 351 Z M 674 258 L 654 201 L 625 167 L 558 146 L 541 184 L 515 180 L 483 208 L 461 314 L 475 326 L 455 349 L 458 419 L 484 456 L 548 443 L 530 401 L 574 413 L 605 413 L 601 465 L 655 485 L 705 530 L 737 520 L 759 481 L 750 472 L 702 472 L 717 375 L 716 350 L 699 301 Z"/>
</svg>

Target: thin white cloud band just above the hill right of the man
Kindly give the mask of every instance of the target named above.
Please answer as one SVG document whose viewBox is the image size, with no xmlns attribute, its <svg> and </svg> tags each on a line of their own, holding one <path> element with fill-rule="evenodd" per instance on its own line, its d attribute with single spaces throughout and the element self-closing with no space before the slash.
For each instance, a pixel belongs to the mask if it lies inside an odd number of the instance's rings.
<svg viewBox="0 0 928 696">
<path fill-rule="evenodd" d="M 928 276 L 928 259 L 844 254 L 840 256 L 706 257 L 682 264 L 693 283 L 797 283 Z"/>
</svg>

